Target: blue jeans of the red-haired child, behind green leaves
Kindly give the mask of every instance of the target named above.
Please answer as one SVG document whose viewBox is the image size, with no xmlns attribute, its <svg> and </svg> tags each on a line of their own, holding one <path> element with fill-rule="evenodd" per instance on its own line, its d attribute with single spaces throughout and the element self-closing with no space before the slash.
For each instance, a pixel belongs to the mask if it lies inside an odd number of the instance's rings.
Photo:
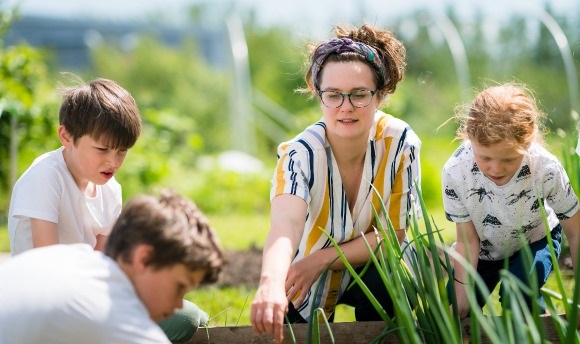
<svg viewBox="0 0 580 344">
<path fill-rule="evenodd" d="M 550 236 L 552 237 L 552 243 L 554 246 L 554 253 L 556 254 L 556 258 L 560 257 L 560 251 L 562 249 L 562 226 L 557 225 L 552 229 Z M 538 284 L 535 286 L 538 292 L 538 306 L 540 307 L 540 313 L 546 312 L 546 303 L 544 301 L 544 297 L 540 293 L 540 289 L 546 284 L 548 277 L 550 276 L 550 272 L 552 272 L 552 258 L 550 256 L 550 247 L 548 246 L 548 239 L 543 238 L 536 242 L 530 244 L 530 251 L 532 254 L 532 265 L 531 270 L 525 269 L 524 259 L 522 257 L 521 251 L 514 253 L 511 257 L 507 259 L 507 266 L 510 273 L 512 273 L 517 279 L 522 281 L 524 284 L 530 285 L 530 281 L 528 280 L 528 276 L 535 273 Z M 504 268 L 505 260 L 481 260 L 477 262 L 477 273 L 480 275 L 482 280 L 485 282 L 485 285 L 492 292 L 497 284 L 500 282 L 500 271 Z M 451 282 L 453 279 L 449 279 L 447 283 L 447 293 L 450 295 L 451 293 Z M 500 297 L 499 301 L 502 305 L 502 308 L 506 308 L 506 298 L 503 297 L 504 288 L 503 284 L 500 286 Z M 487 299 L 481 295 L 479 289 L 477 289 L 477 302 L 479 307 L 483 307 Z M 526 300 L 526 304 L 529 309 L 532 306 L 532 300 L 529 295 L 523 293 L 524 299 Z"/>
</svg>

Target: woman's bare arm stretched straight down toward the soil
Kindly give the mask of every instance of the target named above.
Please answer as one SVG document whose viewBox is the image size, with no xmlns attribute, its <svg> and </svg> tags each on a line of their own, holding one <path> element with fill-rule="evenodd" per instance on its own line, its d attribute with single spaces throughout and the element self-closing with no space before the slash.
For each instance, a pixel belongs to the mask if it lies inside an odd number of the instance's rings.
<svg viewBox="0 0 580 344">
<path fill-rule="evenodd" d="M 298 196 L 283 194 L 272 200 L 271 227 L 264 244 L 251 322 L 255 332 L 268 333 L 277 343 L 282 342 L 284 316 L 288 311 L 286 276 L 304 232 L 306 210 L 306 202 Z"/>
</svg>

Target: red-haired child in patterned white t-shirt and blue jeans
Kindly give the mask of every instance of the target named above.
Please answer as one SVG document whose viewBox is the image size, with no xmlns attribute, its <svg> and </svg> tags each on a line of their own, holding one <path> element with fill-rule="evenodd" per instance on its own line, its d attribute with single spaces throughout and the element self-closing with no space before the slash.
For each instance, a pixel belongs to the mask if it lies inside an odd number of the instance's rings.
<svg viewBox="0 0 580 344">
<path fill-rule="evenodd" d="M 546 283 L 552 261 L 541 205 L 556 254 L 564 229 L 576 263 L 578 198 L 562 164 L 542 146 L 542 115 L 524 86 L 509 83 L 483 90 L 467 114 L 457 116 L 457 134 L 464 142 L 443 167 L 445 215 L 456 223 L 456 251 L 471 262 L 490 291 L 499 283 L 505 260 L 509 271 L 526 284 L 529 275 L 536 274 L 538 291 Z M 525 270 L 520 254 L 521 236 L 533 256 L 531 271 Z M 459 315 L 466 317 L 466 288 L 471 286 L 457 262 L 454 277 L 449 283 L 455 283 Z M 545 310 L 539 295 L 540 309 Z M 501 293 L 500 301 L 505 301 Z M 526 301 L 531 306 L 532 300 Z M 478 302 L 483 307 L 486 300 L 478 295 Z"/>
</svg>

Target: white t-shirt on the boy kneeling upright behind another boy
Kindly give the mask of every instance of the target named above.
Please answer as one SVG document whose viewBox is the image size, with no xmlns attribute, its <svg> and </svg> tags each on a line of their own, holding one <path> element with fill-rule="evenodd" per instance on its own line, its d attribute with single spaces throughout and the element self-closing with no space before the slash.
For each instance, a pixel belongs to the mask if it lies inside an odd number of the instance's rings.
<svg viewBox="0 0 580 344">
<path fill-rule="evenodd" d="M 112 178 L 86 196 L 70 174 L 62 147 L 38 157 L 14 185 L 8 214 L 10 251 L 16 255 L 32 248 L 30 219 L 57 224 L 61 244 L 96 244 L 108 235 L 121 212 L 121 185 Z"/>
</svg>

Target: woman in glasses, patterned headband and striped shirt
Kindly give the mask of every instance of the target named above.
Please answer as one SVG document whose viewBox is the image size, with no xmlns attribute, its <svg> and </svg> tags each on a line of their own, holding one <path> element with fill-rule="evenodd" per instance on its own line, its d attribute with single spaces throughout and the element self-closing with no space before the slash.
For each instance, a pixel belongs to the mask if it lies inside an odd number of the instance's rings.
<svg viewBox="0 0 580 344">
<path fill-rule="evenodd" d="M 254 330 L 277 342 L 284 315 L 308 322 L 312 307 L 332 320 L 335 306 L 345 303 L 359 321 L 381 320 L 360 288 L 346 290 L 351 276 L 321 229 L 350 264 L 362 267 L 370 257 L 362 235 L 376 246 L 373 207 L 381 211 L 385 204 L 381 221 L 386 228 L 388 216 L 405 244 L 407 215 L 417 201 L 421 142 L 408 124 L 378 110 L 403 79 L 405 48 L 390 31 L 370 25 L 335 32 L 337 38 L 314 47 L 301 90 L 319 98 L 323 118 L 278 147 L 271 229 L 251 314 Z M 392 315 L 376 269 L 363 280 Z"/>
</svg>

